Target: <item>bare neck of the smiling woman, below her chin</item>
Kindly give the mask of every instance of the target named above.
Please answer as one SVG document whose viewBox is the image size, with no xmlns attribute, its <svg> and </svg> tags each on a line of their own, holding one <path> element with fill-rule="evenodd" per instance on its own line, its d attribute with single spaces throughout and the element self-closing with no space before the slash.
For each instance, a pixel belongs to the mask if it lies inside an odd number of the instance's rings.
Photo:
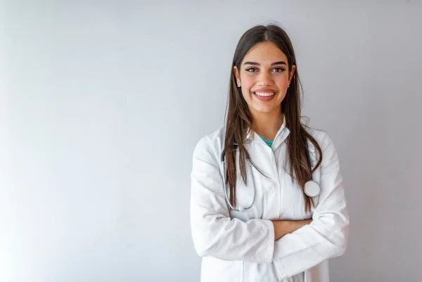
<svg viewBox="0 0 422 282">
<path fill-rule="evenodd" d="M 252 130 L 265 139 L 274 140 L 283 124 L 283 118 L 284 115 L 281 111 L 255 114 L 253 115 Z"/>
</svg>

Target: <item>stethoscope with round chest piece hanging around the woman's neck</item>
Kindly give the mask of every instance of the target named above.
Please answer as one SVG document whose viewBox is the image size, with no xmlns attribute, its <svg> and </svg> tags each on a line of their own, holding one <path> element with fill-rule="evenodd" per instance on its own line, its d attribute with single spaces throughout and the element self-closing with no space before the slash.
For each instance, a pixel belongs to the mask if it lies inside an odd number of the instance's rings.
<svg viewBox="0 0 422 282">
<path fill-rule="evenodd" d="M 236 146 L 236 143 L 235 143 Z M 309 155 L 309 150 L 308 150 L 308 155 Z M 310 155 L 309 155 L 309 160 L 311 160 Z M 231 210 L 235 210 L 236 212 L 243 212 L 245 210 L 249 210 L 252 205 L 255 203 L 255 197 L 256 197 L 256 188 L 255 188 L 255 179 L 253 177 L 253 173 L 252 173 L 252 162 L 248 159 L 248 167 L 250 170 L 250 175 L 252 177 L 252 186 L 253 186 L 253 198 L 252 198 L 252 203 L 250 203 L 250 205 L 248 205 L 247 207 L 236 207 L 231 205 L 230 200 L 229 200 L 229 195 L 227 194 L 227 186 L 226 186 L 226 155 L 225 155 L 225 150 L 222 150 L 222 154 L 220 156 L 220 161 L 222 162 L 222 167 L 223 167 L 223 171 L 222 171 L 222 177 L 223 177 L 223 187 L 224 187 L 224 196 L 226 198 L 226 203 L 229 205 L 229 207 L 231 208 Z M 255 167 L 255 166 L 254 166 Z M 308 197 L 314 198 L 316 196 L 319 196 L 319 193 L 321 191 L 321 186 L 319 186 L 318 183 L 316 183 L 316 181 L 313 180 L 314 179 L 314 175 L 312 174 L 312 180 L 309 180 L 305 183 L 305 194 Z M 316 204 L 316 203 L 315 203 Z"/>
</svg>

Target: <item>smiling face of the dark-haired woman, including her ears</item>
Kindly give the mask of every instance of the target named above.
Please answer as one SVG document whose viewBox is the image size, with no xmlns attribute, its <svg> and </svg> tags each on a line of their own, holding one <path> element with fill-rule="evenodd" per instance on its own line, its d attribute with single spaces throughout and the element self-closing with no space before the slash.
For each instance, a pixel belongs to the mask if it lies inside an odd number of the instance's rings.
<svg viewBox="0 0 422 282">
<path fill-rule="evenodd" d="M 250 49 L 234 74 L 252 115 L 281 113 L 294 71 L 295 65 L 288 71 L 287 57 L 274 43 L 262 42 Z"/>
</svg>

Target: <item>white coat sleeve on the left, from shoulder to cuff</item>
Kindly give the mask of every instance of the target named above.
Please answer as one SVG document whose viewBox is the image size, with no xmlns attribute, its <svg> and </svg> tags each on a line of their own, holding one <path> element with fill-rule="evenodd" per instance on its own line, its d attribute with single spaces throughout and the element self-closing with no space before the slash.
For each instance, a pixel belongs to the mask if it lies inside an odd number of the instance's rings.
<svg viewBox="0 0 422 282">
<path fill-rule="evenodd" d="M 193 151 L 191 231 L 201 257 L 272 262 L 274 225 L 267 219 L 230 218 L 218 153 L 207 137 Z"/>
</svg>

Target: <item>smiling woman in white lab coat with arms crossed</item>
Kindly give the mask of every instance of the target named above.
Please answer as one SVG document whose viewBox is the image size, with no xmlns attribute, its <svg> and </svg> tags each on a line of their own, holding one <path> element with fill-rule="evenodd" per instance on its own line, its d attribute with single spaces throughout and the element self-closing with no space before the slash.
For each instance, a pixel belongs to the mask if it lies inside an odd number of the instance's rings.
<svg viewBox="0 0 422 282">
<path fill-rule="evenodd" d="M 256 26 L 238 42 L 226 126 L 193 152 L 191 229 L 201 281 L 328 281 L 349 218 L 337 153 L 300 121 L 286 32 Z"/>
</svg>

